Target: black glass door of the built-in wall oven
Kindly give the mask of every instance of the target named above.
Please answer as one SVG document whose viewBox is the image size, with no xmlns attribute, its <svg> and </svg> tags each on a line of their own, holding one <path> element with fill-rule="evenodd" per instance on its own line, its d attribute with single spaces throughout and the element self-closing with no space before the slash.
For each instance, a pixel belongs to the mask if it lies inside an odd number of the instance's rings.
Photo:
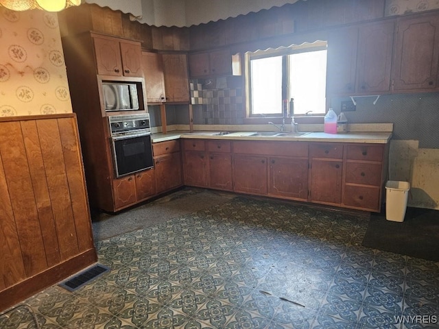
<svg viewBox="0 0 439 329">
<path fill-rule="evenodd" d="M 125 135 L 111 138 L 116 177 L 154 167 L 151 135 Z"/>
</svg>

